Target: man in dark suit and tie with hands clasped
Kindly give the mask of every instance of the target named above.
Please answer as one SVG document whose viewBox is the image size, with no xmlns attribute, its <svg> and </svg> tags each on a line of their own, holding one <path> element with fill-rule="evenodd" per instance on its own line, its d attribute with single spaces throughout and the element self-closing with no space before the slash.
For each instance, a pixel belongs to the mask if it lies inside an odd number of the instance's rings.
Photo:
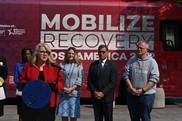
<svg viewBox="0 0 182 121">
<path fill-rule="evenodd" d="M 100 45 L 99 60 L 90 64 L 88 90 L 91 92 L 95 121 L 113 121 L 114 89 L 117 80 L 117 66 L 107 59 L 108 48 Z"/>
</svg>

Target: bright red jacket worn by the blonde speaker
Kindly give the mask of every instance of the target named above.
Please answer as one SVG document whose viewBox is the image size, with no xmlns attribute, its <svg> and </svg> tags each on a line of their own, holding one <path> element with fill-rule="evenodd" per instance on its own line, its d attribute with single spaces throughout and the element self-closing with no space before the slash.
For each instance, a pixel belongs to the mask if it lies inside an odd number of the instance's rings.
<svg viewBox="0 0 182 121">
<path fill-rule="evenodd" d="M 58 81 L 58 91 L 61 91 L 64 87 L 64 78 L 58 68 L 45 65 L 43 67 L 44 81 L 48 83 L 54 83 Z M 39 77 L 39 67 L 32 66 L 30 62 L 25 63 L 22 73 L 20 75 L 20 82 L 28 82 L 37 80 Z M 58 80 L 57 80 L 58 79 Z M 50 107 L 55 106 L 55 86 L 51 86 L 52 94 L 50 99 Z M 58 99 L 58 98 L 57 98 Z"/>
</svg>

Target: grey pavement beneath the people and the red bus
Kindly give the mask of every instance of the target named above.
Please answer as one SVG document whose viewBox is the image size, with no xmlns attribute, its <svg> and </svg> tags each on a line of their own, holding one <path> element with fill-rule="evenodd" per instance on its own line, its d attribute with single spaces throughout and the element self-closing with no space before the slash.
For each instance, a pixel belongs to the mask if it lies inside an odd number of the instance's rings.
<svg viewBox="0 0 182 121">
<path fill-rule="evenodd" d="M 113 121 L 130 121 L 129 112 L 126 104 L 116 104 L 113 110 Z M 182 121 L 182 98 L 167 99 L 165 107 L 154 108 L 151 113 L 152 121 Z M 81 103 L 81 117 L 78 121 L 93 121 L 94 113 L 92 105 Z M 4 106 L 4 116 L 0 121 L 18 121 L 15 104 Z M 56 121 L 61 121 L 61 117 L 56 117 Z"/>
</svg>

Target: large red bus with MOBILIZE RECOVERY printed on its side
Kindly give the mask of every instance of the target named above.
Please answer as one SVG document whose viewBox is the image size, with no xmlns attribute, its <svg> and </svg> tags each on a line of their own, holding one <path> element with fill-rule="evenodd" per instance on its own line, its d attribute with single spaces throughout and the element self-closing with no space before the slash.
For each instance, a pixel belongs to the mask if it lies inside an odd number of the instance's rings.
<svg viewBox="0 0 182 121">
<path fill-rule="evenodd" d="M 21 49 L 44 42 L 50 45 L 58 62 L 65 50 L 76 47 L 87 87 L 89 64 L 98 59 L 100 44 L 108 46 L 109 59 L 118 65 L 116 97 L 125 86 L 123 68 L 146 40 L 160 69 L 158 87 L 165 95 L 182 96 L 182 7 L 176 0 L 0 0 L 0 55 L 9 74 L 5 82 L 8 98 L 15 97 L 13 71 L 21 61 Z"/>
</svg>

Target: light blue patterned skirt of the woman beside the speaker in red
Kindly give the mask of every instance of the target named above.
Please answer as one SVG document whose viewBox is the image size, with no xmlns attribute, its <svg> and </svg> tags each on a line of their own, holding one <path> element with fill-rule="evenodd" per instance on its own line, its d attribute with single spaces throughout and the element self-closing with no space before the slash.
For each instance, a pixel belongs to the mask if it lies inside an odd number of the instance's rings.
<svg viewBox="0 0 182 121">
<path fill-rule="evenodd" d="M 80 97 L 61 96 L 60 103 L 57 108 L 57 115 L 80 118 Z"/>
</svg>

